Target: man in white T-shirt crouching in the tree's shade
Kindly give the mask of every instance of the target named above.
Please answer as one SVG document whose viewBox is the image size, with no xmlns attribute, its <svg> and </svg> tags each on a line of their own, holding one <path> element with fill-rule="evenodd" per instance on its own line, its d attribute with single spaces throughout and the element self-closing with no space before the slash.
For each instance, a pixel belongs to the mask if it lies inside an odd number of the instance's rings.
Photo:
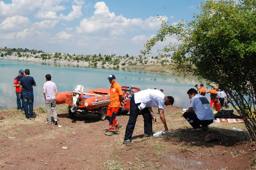
<svg viewBox="0 0 256 170">
<path fill-rule="evenodd" d="M 189 122 L 194 130 L 208 130 L 208 125 L 213 122 L 214 114 L 209 101 L 205 96 L 191 88 L 187 92 L 191 103 L 189 109 L 183 114 L 183 117 Z"/>
</svg>

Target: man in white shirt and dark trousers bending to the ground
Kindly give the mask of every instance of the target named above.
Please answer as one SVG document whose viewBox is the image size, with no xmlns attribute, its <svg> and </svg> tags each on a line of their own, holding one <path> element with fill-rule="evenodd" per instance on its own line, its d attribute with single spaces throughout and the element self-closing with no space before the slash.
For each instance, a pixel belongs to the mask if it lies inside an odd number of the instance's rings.
<svg viewBox="0 0 256 170">
<path fill-rule="evenodd" d="M 132 144 L 131 136 L 134 131 L 135 123 L 139 113 L 144 118 L 144 135 L 152 136 L 152 121 L 155 123 L 156 118 L 151 107 L 158 107 L 160 111 L 160 119 L 163 122 L 164 130 L 168 131 L 166 119 L 163 114 L 164 105 L 172 105 L 174 99 L 172 96 L 164 96 L 160 90 L 147 89 L 139 91 L 131 97 L 130 101 L 130 118 L 125 130 L 125 139 L 123 144 Z"/>
</svg>

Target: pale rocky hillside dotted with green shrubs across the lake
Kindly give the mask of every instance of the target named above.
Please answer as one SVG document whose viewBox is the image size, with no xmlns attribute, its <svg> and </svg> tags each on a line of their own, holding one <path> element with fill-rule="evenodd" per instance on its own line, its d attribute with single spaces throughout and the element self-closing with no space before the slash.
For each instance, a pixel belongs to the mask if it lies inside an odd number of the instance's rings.
<svg viewBox="0 0 256 170">
<path fill-rule="evenodd" d="M 95 67 L 125 67 L 132 65 L 169 65 L 170 58 L 158 57 L 134 57 L 113 55 L 83 55 L 83 54 L 61 54 L 44 52 L 21 52 L 21 51 L 0 51 L 0 59 L 17 59 L 42 62 L 70 63 L 80 66 Z"/>
</svg>

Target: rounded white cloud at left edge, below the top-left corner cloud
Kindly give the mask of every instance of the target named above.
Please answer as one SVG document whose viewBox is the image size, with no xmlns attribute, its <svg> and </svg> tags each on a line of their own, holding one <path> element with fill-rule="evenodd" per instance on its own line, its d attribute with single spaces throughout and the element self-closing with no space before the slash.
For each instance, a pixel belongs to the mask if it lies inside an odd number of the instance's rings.
<svg viewBox="0 0 256 170">
<path fill-rule="evenodd" d="M 28 17 L 23 16 L 13 16 L 13 17 L 7 17 L 5 20 L 3 20 L 2 23 L 0 23 L 0 29 L 1 30 L 20 30 L 21 28 L 26 28 L 30 25 L 30 20 Z"/>
</svg>

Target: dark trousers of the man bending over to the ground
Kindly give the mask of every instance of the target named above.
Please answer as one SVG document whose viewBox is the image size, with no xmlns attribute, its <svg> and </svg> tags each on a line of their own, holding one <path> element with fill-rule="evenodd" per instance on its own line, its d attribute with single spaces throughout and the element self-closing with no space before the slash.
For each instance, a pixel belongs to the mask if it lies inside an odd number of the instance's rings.
<svg viewBox="0 0 256 170">
<path fill-rule="evenodd" d="M 137 117 L 140 113 L 142 114 L 142 116 L 144 118 L 144 133 L 146 135 L 153 134 L 152 116 L 151 116 L 148 108 L 144 108 L 140 111 L 140 109 L 138 108 L 139 105 L 140 105 L 140 103 L 136 104 L 134 101 L 134 96 L 132 96 L 131 102 L 130 102 L 130 115 L 129 115 L 130 117 L 129 117 L 126 129 L 125 129 L 125 140 L 127 140 L 127 139 L 131 140 L 131 136 L 134 131 Z"/>
</svg>

